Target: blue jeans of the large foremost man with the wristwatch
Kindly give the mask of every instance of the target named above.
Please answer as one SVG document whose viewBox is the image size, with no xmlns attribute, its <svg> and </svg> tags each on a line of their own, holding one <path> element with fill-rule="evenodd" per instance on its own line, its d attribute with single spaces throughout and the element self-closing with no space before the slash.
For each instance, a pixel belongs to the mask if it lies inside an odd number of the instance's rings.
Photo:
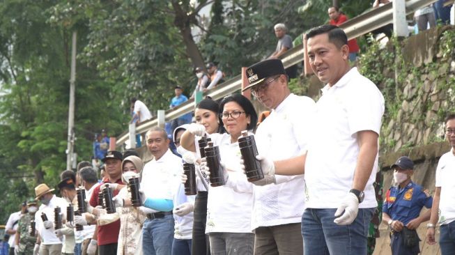
<svg viewBox="0 0 455 255">
<path fill-rule="evenodd" d="M 333 221 L 337 209 L 307 208 L 302 216 L 305 255 L 367 254 L 367 235 L 375 208 L 359 209 L 350 225 L 339 226 Z"/>
</svg>

